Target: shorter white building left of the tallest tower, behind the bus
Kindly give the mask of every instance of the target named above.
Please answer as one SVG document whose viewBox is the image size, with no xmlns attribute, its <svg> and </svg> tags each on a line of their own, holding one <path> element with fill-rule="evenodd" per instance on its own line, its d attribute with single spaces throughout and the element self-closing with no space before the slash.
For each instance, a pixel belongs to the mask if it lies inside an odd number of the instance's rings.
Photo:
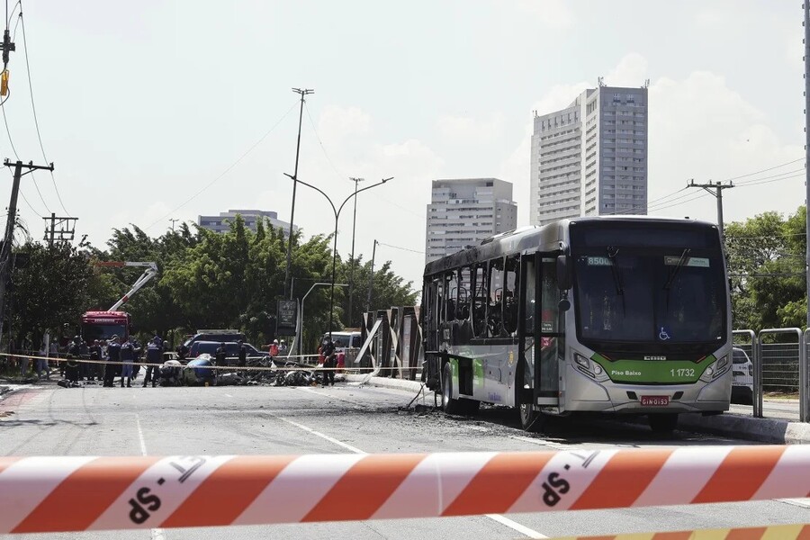
<svg viewBox="0 0 810 540">
<path fill-rule="evenodd" d="M 512 184 L 497 178 L 434 180 L 428 204 L 426 262 L 518 226 Z"/>
</svg>

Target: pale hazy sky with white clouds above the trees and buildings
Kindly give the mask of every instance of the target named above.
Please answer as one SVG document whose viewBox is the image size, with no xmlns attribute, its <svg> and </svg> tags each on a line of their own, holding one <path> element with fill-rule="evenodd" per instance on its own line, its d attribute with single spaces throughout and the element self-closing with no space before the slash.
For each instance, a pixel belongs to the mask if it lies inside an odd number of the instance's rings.
<svg viewBox="0 0 810 540">
<path fill-rule="evenodd" d="M 289 221 L 293 87 L 315 91 L 299 178 L 337 206 L 350 178 L 393 177 L 358 195 L 355 251 L 368 260 L 376 239 L 377 267 L 390 260 L 417 288 L 431 181 L 511 182 L 526 225 L 533 111 L 600 76 L 649 80 L 651 215 L 715 221 L 716 200 L 684 189 L 690 179 L 742 176 L 724 191 L 726 222 L 805 201 L 800 2 L 26 0 L 23 24 L 19 4 L 8 9 L 0 157 L 56 167 L 23 177 L 33 238 L 51 212 L 78 218 L 76 239 L 96 247 L 130 224 L 157 237 L 170 220 L 229 209 Z M 338 221 L 341 257 L 352 210 Z M 305 238 L 335 229 L 329 202 L 302 184 L 294 221 Z"/>
</svg>

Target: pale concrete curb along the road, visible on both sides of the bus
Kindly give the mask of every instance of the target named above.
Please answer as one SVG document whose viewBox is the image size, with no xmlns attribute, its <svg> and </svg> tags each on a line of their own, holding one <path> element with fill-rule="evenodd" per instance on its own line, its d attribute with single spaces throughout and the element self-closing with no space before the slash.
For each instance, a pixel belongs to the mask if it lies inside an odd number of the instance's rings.
<svg viewBox="0 0 810 540">
<path fill-rule="evenodd" d="M 405 381 L 389 377 L 371 377 L 368 381 L 366 381 L 367 375 L 347 375 L 346 378 L 349 383 L 357 386 L 367 384 L 409 392 L 419 392 L 422 387 L 422 383 L 419 381 Z M 786 419 L 755 419 L 731 412 L 710 417 L 699 414 L 682 414 L 678 421 L 678 428 L 779 445 L 810 443 L 810 423 L 791 422 Z"/>
</svg>

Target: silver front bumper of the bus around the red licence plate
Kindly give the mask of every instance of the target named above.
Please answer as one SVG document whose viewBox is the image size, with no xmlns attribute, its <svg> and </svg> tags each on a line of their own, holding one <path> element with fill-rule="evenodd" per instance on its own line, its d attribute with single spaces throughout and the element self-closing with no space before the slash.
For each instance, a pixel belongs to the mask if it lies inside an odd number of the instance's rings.
<svg viewBox="0 0 810 540">
<path fill-rule="evenodd" d="M 731 376 L 722 376 L 711 383 L 694 384 L 618 384 L 599 383 L 566 366 L 566 387 L 563 410 L 566 412 L 617 412 L 648 414 L 662 412 L 719 412 L 728 410 L 731 396 Z M 679 395 L 680 394 L 680 395 Z M 666 406 L 643 406 L 642 396 L 666 396 Z"/>
</svg>

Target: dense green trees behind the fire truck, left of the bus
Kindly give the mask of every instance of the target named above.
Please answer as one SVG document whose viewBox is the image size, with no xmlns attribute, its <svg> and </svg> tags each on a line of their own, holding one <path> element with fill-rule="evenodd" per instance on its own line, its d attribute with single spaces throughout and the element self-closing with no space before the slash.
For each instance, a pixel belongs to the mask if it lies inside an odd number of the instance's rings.
<svg viewBox="0 0 810 540">
<path fill-rule="evenodd" d="M 127 293 L 143 272 L 141 267 L 95 266 L 96 261 L 154 261 L 158 275 L 121 309 L 132 315 L 136 334 L 153 333 L 178 344 L 186 333 L 202 328 L 242 329 L 256 345 L 275 338 L 276 302 L 284 296 L 287 241 L 282 229 L 259 221 L 257 232 L 237 216 L 224 234 L 182 225 L 151 238 L 130 225 L 113 229 L 107 249 L 82 245 L 52 248 L 30 242 L 28 268 L 14 272 L 12 293 L 14 332 L 40 335 L 68 323 L 73 332 L 81 314 L 106 310 Z M 413 305 L 417 293 L 390 270 L 387 262 L 374 271 L 372 308 Z M 370 263 L 356 261 L 353 313 L 348 314 L 347 290 L 335 288 L 333 329 L 358 326 L 366 310 Z M 313 284 L 332 278 L 332 237 L 293 238 L 291 260 L 293 298 L 302 299 Z M 336 260 L 336 282 L 347 283 L 348 266 Z M 329 286 L 318 286 L 304 306 L 304 346 L 314 350 L 329 328 Z"/>
</svg>

